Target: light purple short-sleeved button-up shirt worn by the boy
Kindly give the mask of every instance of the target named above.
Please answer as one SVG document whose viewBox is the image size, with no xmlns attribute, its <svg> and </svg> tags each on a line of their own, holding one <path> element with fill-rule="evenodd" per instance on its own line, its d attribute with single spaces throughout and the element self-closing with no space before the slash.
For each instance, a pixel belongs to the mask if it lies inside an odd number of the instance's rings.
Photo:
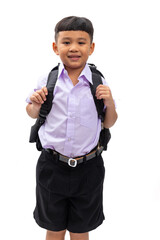
<svg viewBox="0 0 160 240">
<path fill-rule="evenodd" d="M 92 73 L 88 64 L 78 80 L 74 86 L 63 64 L 60 64 L 52 109 L 39 130 L 43 148 L 54 149 L 68 157 L 90 152 L 98 144 L 101 131 L 101 120 L 98 119 L 89 86 L 89 82 L 92 83 Z M 102 80 L 103 84 L 108 85 Z M 41 79 L 37 89 L 45 86 L 46 82 L 47 77 Z"/>
</svg>

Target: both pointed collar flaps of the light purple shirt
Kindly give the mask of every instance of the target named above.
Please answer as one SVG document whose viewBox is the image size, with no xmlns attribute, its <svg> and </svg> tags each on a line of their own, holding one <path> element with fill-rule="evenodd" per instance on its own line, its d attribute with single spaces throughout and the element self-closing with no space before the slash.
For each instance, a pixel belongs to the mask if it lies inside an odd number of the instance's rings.
<svg viewBox="0 0 160 240">
<path fill-rule="evenodd" d="M 63 63 L 59 64 L 59 71 L 58 71 L 58 78 L 61 76 L 61 74 L 64 72 L 65 68 Z M 86 80 L 88 80 L 88 82 L 90 82 L 91 84 L 93 84 L 92 82 L 92 72 L 90 70 L 90 67 L 88 66 L 88 64 L 86 63 L 85 67 L 83 68 L 80 77 L 85 77 Z"/>
</svg>

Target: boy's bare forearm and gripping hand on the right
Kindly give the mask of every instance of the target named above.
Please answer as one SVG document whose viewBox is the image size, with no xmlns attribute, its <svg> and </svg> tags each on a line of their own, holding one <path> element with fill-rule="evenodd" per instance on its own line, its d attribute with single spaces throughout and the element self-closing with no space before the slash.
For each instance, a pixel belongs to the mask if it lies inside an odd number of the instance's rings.
<svg viewBox="0 0 160 240">
<path fill-rule="evenodd" d="M 110 128 L 118 118 L 110 88 L 106 85 L 99 85 L 96 89 L 96 97 L 97 99 L 103 99 L 104 105 L 107 107 L 103 126 Z"/>
</svg>

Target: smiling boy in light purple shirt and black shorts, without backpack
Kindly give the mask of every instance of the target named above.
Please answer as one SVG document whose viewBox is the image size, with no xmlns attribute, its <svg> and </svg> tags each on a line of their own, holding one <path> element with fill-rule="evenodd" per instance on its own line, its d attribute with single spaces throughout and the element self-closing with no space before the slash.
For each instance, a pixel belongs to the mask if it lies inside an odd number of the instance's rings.
<svg viewBox="0 0 160 240">
<path fill-rule="evenodd" d="M 43 147 L 37 163 L 37 204 L 34 218 L 47 229 L 46 240 L 88 240 L 88 232 L 104 220 L 102 190 L 104 163 L 101 154 L 85 161 L 96 151 L 101 120 L 90 91 L 91 70 L 87 64 L 93 53 L 93 26 L 86 18 L 67 17 L 55 27 L 54 52 L 60 57 L 58 79 L 52 109 L 39 130 Z M 43 79 L 29 97 L 27 113 L 37 118 L 48 94 Z M 104 79 L 103 79 L 104 82 Z M 117 120 L 114 100 L 105 84 L 96 89 L 96 97 L 106 106 L 104 127 Z M 60 158 L 80 157 L 84 161 L 70 167 Z"/>
</svg>

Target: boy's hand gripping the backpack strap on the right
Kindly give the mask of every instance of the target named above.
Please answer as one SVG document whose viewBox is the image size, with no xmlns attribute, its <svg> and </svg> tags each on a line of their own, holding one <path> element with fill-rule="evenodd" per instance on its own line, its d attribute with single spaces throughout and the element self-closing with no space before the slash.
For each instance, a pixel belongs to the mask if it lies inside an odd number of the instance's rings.
<svg viewBox="0 0 160 240">
<path fill-rule="evenodd" d="M 114 100 L 112 98 L 111 90 L 108 86 L 100 84 L 96 89 L 97 99 L 103 99 L 104 105 L 106 107 L 111 107 L 114 105 Z"/>
</svg>

